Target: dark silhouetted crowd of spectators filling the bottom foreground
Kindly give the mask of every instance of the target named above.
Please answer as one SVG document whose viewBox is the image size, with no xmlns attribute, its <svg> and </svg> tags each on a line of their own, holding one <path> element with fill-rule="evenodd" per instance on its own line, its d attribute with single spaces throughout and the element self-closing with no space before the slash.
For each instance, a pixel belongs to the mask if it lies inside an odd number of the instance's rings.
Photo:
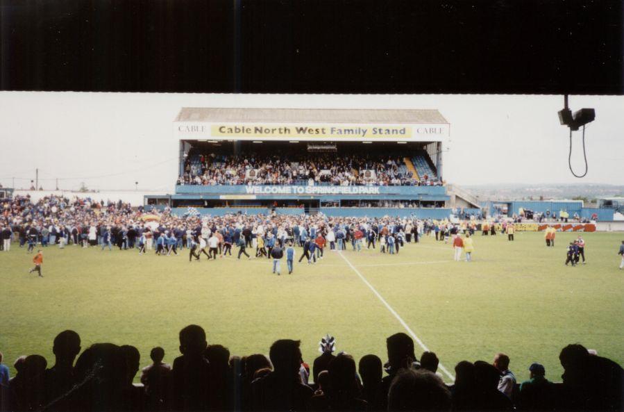
<svg viewBox="0 0 624 412">
<path fill-rule="evenodd" d="M 327 338 L 327 339 L 326 339 Z M 50 368 L 38 354 L 15 361 L 15 377 L 0 365 L 1 411 L 621 411 L 623 370 L 582 345 L 559 354 L 561 384 L 546 378 L 539 363 L 522 374 L 518 386 L 505 354 L 494 361 L 461 361 L 455 382 L 444 384 L 433 352 L 420 359 L 405 333 L 386 340 L 387 362 L 373 354 L 357 361 L 334 354 L 333 338 L 321 340 L 322 354 L 310 367 L 300 341 L 276 340 L 264 354 L 230 356 L 208 345 L 205 331 L 189 325 L 179 333 L 180 356 L 172 365 L 161 347 L 140 370 L 140 352 L 131 345 L 94 343 L 81 352 L 75 331 L 53 341 Z M 169 355 L 171 356 L 171 355 Z M 74 360 L 77 358 L 75 364 Z M 0 355 L 0 362 L 2 361 Z M 523 369 L 527 365 L 522 366 Z M 383 376 L 383 372 L 386 376 Z M 516 373 L 518 371 L 516 370 Z M 518 373 L 520 376 L 520 373 Z"/>
</svg>

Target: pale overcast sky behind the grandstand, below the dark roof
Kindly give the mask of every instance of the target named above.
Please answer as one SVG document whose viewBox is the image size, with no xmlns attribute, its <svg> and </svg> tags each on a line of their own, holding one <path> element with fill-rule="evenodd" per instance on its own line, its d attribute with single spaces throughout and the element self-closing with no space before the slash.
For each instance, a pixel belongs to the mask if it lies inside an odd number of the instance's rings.
<svg viewBox="0 0 624 412">
<path fill-rule="evenodd" d="M 568 170 L 569 131 L 559 124 L 562 96 L 161 94 L 0 92 L 0 183 L 78 190 L 173 192 L 182 107 L 435 108 L 450 123 L 444 179 L 494 183 L 624 184 L 624 97 L 571 96 L 570 108 L 595 108 L 586 129 L 589 172 Z M 580 133 L 572 165 L 582 173 Z M 138 182 L 135 186 L 135 182 Z"/>
</svg>

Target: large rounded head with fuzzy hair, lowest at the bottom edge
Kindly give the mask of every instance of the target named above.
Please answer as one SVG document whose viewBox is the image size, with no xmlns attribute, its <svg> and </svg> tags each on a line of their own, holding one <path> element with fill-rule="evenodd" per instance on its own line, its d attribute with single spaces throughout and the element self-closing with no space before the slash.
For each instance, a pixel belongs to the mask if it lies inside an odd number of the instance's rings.
<svg viewBox="0 0 624 412">
<path fill-rule="evenodd" d="M 449 411 L 450 391 L 435 373 L 404 368 L 388 391 L 388 411 Z"/>
</svg>

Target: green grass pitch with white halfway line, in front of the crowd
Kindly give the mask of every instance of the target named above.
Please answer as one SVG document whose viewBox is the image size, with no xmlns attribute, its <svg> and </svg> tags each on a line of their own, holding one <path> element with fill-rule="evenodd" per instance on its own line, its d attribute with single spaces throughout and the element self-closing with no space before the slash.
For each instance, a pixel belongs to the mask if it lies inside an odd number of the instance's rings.
<svg viewBox="0 0 624 412">
<path fill-rule="evenodd" d="M 518 381 L 534 361 L 560 381 L 559 350 L 568 343 L 624 363 L 624 271 L 616 255 L 624 234 L 584 233 L 587 265 L 566 267 L 575 236 L 557 233 L 556 247 L 546 248 L 542 233 L 516 233 L 514 242 L 477 235 L 471 263 L 453 261 L 450 245 L 432 238 L 392 256 L 348 245 L 342 256 L 326 250 L 316 265 L 295 262 L 292 275 L 283 260 L 280 277 L 266 258 L 189 263 L 187 250 L 161 257 L 69 246 L 44 248 L 38 278 L 27 273 L 32 255 L 14 243 L 0 252 L 0 351 L 12 374 L 22 354 L 42 354 L 51 365 L 54 336 L 74 329 L 83 349 L 135 345 L 147 365 L 158 345 L 170 362 L 179 354 L 178 331 L 194 323 L 232 354 L 268 354 L 273 340 L 294 338 L 311 364 L 321 336 L 331 333 L 337 350 L 356 361 L 369 353 L 385 361 L 385 338 L 405 329 L 357 271 L 450 372 L 464 359 L 505 352 Z"/>
</svg>

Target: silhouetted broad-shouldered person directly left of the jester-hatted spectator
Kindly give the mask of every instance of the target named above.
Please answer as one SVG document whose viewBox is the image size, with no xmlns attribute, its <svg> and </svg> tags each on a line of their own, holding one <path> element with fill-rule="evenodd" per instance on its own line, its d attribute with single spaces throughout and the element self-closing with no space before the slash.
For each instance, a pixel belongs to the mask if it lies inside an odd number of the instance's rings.
<svg viewBox="0 0 624 412">
<path fill-rule="evenodd" d="M 301 350 L 299 340 L 276 340 L 269 350 L 273 372 L 253 381 L 255 411 L 303 411 L 313 395 L 301 383 Z"/>
</svg>

